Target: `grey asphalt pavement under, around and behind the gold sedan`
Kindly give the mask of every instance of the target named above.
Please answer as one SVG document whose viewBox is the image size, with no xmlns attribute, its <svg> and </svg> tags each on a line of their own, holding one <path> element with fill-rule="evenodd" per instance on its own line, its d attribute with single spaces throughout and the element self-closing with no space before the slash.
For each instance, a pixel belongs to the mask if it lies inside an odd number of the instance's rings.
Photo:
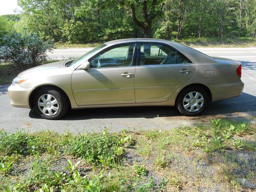
<svg viewBox="0 0 256 192">
<path fill-rule="evenodd" d="M 58 133 L 66 131 L 82 133 L 101 131 L 104 127 L 108 127 L 111 131 L 171 129 L 182 125 L 196 125 L 209 118 L 226 117 L 245 121 L 253 119 L 256 116 L 256 48 L 203 48 L 199 50 L 208 55 L 242 61 L 242 81 L 245 83 L 244 92 L 240 97 L 212 102 L 202 116 L 184 117 L 174 107 L 145 106 L 72 110 L 61 120 L 46 120 L 40 119 L 32 110 L 11 106 L 7 94 L 8 85 L 0 84 L 0 129 L 8 132 L 51 130 Z M 71 55 L 77 57 L 83 54 L 83 51 L 84 49 L 66 49 L 56 50 L 53 54 L 55 58 L 61 55 L 67 58 Z"/>
</svg>

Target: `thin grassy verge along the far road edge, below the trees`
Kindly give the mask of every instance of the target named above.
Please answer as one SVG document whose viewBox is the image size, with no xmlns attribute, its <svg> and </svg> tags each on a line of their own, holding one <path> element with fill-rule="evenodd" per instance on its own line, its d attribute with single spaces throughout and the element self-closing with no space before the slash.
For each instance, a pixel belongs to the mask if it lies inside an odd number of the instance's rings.
<svg viewBox="0 0 256 192">
<path fill-rule="evenodd" d="M 173 41 L 180 42 L 183 45 L 190 47 L 256 47 L 256 39 L 252 37 L 186 37 L 183 39 L 172 39 Z M 69 49 L 69 48 L 91 48 L 97 47 L 103 42 L 89 42 L 87 44 L 64 44 L 55 43 L 56 49 Z"/>
</svg>

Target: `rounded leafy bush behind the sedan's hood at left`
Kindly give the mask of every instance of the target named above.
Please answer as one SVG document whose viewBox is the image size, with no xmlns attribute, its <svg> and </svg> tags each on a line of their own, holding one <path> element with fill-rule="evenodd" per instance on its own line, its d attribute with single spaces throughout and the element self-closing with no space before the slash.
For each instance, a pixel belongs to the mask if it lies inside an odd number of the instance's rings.
<svg viewBox="0 0 256 192">
<path fill-rule="evenodd" d="M 19 69 L 28 69 L 46 60 L 46 51 L 51 51 L 53 42 L 43 41 L 36 34 L 22 35 L 11 33 L 5 35 L 0 47 L 0 60 L 11 62 Z"/>
</svg>

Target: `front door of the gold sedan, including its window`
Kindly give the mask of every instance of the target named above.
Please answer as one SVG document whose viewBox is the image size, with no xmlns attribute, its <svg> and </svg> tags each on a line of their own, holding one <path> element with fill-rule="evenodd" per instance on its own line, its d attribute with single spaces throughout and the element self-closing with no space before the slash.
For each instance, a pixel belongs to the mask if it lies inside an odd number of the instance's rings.
<svg viewBox="0 0 256 192">
<path fill-rule="evenodd" d="M 135 103 L 135 44 L 108 48 L 89 59 L 90 69 L 72 74 L 78 105 Z"/>
</svg>

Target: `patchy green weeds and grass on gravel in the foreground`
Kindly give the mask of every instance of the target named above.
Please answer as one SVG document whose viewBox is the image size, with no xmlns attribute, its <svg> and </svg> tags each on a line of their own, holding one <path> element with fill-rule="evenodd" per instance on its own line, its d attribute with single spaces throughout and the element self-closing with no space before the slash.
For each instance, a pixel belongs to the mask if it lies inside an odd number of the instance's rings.
<svg viewBox="0 0 256 192">
<path fill-rule="evenodd" d="M 218 119 L 168 131 L 0 132 L 0 190 L 250 191 L 255 128 Z"/>
</svg>

